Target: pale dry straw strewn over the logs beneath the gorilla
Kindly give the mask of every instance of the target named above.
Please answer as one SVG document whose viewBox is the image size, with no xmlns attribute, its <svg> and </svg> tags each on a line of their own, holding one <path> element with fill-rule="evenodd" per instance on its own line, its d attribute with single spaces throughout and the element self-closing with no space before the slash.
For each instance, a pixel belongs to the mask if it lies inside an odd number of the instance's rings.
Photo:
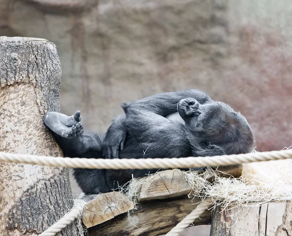
<svg viewBox="0 0 292 236">
<path fill-rule="evenodd" d="M 214 206 L 225 209 L 234 206 L 247 207 L 249 202 L 262 204 L 269 201 L 292 200 L 292 160 L 243 164 L 239 178 L 219 177 L 218 171 L 207 167 L 205 171 L 183 171 L 193 191 L 190 198 L 204 200 L 211 197 Z M 217 172 L 217 174 L 216 174 Z M 152 174 L 157 175 L 157 173 Z M 152 176 L 151 175 L 151 176 Z M 207 177 L 213 175 L 213 181 Z M 136 205 L 141 187 L 147 177 L 134 179 L 121 186 L 120 191 Z M 257 205 L 257 204 L 254 204 Z M 250 207 L 250 205 L 249 205 Z"/>
</svg>

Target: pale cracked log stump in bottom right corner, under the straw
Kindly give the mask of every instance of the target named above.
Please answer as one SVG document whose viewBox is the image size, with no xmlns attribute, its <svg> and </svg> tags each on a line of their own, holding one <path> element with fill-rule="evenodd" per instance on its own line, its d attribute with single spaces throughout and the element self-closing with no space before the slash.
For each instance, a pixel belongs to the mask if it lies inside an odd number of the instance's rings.
<svg viewBox="0 0 292 236">
<path fill-rule="evenodd" d="M 217 207 L 212 212 L 210 236 L 292 236 L 290 201 L 258 204 L 241 209 Z"/>
</svg>

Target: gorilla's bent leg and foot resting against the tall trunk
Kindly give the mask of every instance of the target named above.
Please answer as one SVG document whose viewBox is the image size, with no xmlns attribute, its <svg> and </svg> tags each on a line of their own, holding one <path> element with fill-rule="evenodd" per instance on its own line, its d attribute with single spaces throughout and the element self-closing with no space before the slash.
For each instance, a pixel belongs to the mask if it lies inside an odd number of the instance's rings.
<svg viewBox="0 0 292 236">
<path fill-rule="evenodd" d="M 95 132 L 83 132 L 80 120 L 80 111 L 72 116 L 49 112 L 44 118 L 66 157 L 103 158 L 102 138 Z M 86 194 L 111 191 L 105 180 L 105 170 L 77 168 L 73 175 Z"/>
</svg>

